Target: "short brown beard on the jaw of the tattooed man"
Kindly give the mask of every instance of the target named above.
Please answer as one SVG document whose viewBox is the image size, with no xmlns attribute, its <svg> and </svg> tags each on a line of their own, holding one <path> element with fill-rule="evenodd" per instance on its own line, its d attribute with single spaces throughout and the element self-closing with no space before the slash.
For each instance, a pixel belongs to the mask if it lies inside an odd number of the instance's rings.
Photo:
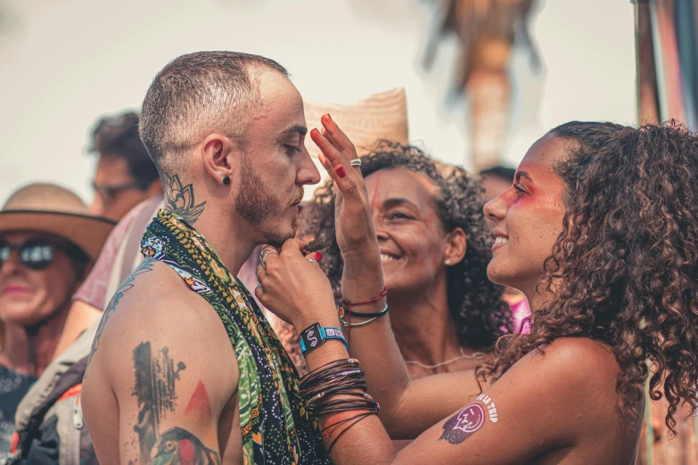
<svg viewBox="0 0 698 465">
<path fill-rule="evenodd" d="M 300 198 L 303 191 L 300 190 Z M 262 182 L 261 177 L 255 172 L 247 155 L 242 157 L 240 169 L 240 192 L 235 199 L 235 212 L 250 223 L 252 227 L 259 227 L 267 219 L 282 215 L 286 208 L 289 208 L 296 198 L 281 200 L 275 196 L 272 189 Z M 296 235 L 296 221 L 298 216 L 292 220 L 291 231 L 284 232 L 283 225 L 278 229 L 259 230 L 265 241 L 275 247 L 281 247 L 284 241 L 292 239 Z"/>
</svg>

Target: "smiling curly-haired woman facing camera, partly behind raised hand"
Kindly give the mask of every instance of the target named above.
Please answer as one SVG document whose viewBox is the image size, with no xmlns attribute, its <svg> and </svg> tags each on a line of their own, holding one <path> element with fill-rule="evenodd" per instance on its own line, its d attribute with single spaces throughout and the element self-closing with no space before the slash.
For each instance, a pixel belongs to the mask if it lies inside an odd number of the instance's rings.
<svg viewBox="0 0 698 465">
<path fill-rule="evenodd" d="M 487 277 L 492 235 L 480 184 L 415 147 L 384 141 L 363 157 L 390 323 L 411 378 L 474 369 L 513 326 L 503 288 Z M 332 180 L 303 212 L 307 236 L 334 241 Z M 336 244 L 321 267 L 340 291 Z"/>
</svg>

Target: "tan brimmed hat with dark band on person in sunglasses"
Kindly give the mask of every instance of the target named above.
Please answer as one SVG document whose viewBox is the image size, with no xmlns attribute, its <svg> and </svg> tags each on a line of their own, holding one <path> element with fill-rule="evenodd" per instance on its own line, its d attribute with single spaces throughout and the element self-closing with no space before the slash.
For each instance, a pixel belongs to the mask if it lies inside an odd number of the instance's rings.
<svg viewBox="0 0 698 465">
<path fill-rule="evenodd" d="M 0 233 L 42 232 L 83 249 L 94 262 L 116 223 L 91 216 L 82 200 L 56 184 L 29 184 L 13 192 L 0 210 Z"/>
</svg>

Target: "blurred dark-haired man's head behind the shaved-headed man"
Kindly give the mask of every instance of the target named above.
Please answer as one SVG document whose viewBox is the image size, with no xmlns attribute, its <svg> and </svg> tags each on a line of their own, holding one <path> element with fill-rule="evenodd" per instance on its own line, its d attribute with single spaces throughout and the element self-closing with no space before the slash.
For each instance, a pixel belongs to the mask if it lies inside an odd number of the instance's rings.
<svg viewBox="0 0 698 465">
<path fill-rule="evenodd" d="M 119 221 L 143 200 L 162 193 L 158 170 L 138 136 L 138 115 L 101 118 L 88 150 L 97 157 L 90 211 Z"/>
</svg>

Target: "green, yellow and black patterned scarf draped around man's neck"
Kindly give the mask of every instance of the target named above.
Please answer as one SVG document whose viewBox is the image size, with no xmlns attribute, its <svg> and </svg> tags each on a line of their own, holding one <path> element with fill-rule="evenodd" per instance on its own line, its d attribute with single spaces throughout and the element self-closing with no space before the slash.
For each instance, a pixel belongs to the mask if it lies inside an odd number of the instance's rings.
<svg viewBox="0 0 698 465">
<path fill-rule="evenodd" d="M 242 458 L 247 464 L 331 463 L 299 377 L 259 306 L 199 232 L 168 210 L 148 226 L 144 257 L 169 265 L 205 298 L 226 327 L 240 366 Z"/>
</svg>

